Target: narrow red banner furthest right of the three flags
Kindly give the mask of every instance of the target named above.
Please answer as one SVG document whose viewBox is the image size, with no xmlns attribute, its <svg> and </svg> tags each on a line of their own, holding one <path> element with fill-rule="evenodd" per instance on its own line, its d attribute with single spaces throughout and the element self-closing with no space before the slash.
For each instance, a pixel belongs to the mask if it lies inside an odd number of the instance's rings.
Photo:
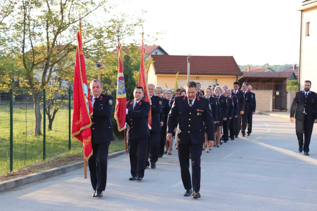
<svg viewBox="0 0 317 211">
<path fill-rule="evenodd" d="M 142 33 L 142 47 L 141 47 L 141 64 L 140 64 L 140 73 L 139 73 L 139 83 L 138 86 L 142 86 L 144 90 L 145 97 L 143 100 L 146 102 L 149 102 L 150 105 L 152 105 L 150 95 L 149 95 L 149 90 L 147 87 L 147 78 L 146 78 L 146 72 L 144 68 L 144 58 L 143 58 L 143 53 L 144 53 L 144 41 L 143 41 L 143 33 Z M 149 128 L 152 128 L 152 109 L 150 108 L 149 116 L 147 118 L 147 124 L 149 125 Z"/>
</svg>

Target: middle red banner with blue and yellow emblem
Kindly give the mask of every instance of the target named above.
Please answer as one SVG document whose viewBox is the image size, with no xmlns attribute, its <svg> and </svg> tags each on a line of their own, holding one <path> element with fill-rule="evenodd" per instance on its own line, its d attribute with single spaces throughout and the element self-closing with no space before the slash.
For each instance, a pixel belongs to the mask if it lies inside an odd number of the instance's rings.
<svg viewBox="0 0 317 211">
<path fill-rule="evenodd" d="M 124 84 L 121 47 L 118 39 L 118 79 L 117 79 L 117 96 L 116 96 L 116 107 L 114 109 L 114 119 L 117 121 L 118 130 L 124 130 L 126 124 L 126 86 Z"/>
</svg>

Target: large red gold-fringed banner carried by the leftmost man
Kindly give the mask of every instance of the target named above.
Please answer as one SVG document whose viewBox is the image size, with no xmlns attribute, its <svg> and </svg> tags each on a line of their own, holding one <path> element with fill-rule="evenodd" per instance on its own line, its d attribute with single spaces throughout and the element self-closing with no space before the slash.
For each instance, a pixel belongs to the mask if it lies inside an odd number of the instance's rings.
<svg viewBox="0 0 317 211">
<path fill-rule="evenodd" d="M 80 28 L 81 32 L 81 28 Z M 89 159 L 93 154 L 91 143 L 91 116 L 93 115 L 93 107 L 90 102 L 90 94 L 88 89 L 86 67 L 84 54 L 82 51 L 81 33 L 77 33 L 77 49 L 75 56 L 74 68 L 74 110 L 72 137 L 82 142 L 84 157 Z"/>
</svg>

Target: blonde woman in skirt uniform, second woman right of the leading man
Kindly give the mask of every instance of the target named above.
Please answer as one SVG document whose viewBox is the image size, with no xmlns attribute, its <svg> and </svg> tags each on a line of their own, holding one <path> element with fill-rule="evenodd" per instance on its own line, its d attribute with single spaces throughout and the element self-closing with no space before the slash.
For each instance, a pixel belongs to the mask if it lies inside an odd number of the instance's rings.
<svg viewBox="0 0 317 211">
<path fill-rule="evenodd" d="M 228 103 L 227 103 L 226 97 L 223 96 L 223 92 L 224 91 L 221 86 L 216 86 L 214 93 L 215 93 L 215 97 L 219 101 L 219 105 L 221 109 L 220 122 L 217 123 L 217 147 L 220 147 L 220 135 L 221 135 L 222 122 L 223 120 L 227 120 L 226 116 L 228 116 Z"/>
</svg>

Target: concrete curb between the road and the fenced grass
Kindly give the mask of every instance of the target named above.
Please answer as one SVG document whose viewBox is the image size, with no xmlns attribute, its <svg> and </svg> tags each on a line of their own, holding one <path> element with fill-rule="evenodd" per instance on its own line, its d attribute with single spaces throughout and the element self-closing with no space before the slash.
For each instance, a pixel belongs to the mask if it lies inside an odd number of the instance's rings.
<svg viewBox="0 0 317 211">
<path fill-rule="evenodd" d="M 125 153 L 126 153 L 125 150 L 113 152 L 113 153 L 108 155 L 108 159 L 115 158 L 115 157 L 123 155 Z M 47 179 L 49 177 L 54 177 L 54 176 L 59 175 L 59 174 L 65 174 L 69 171 L 74 171 L 76 169 L 83 168 L 83 167 L 84 167 L 84 161 L 81 161 L 81 162 L 57 167 L 54 169 L 50 169 L 47 171 L 37 172 L 37 173 L 30 174 L 30 175 L 27 175 L 24 177 L 10 179 L 8 181 L 0 183 L 0 192 L 10 190 L 12 188 L 16 188 L 16 187 L 19 187 L 19 186 L 22 186 L 25 184 L 38 182 L 40 180 L 44 180 L 44 179 Z"/>
</svg>

